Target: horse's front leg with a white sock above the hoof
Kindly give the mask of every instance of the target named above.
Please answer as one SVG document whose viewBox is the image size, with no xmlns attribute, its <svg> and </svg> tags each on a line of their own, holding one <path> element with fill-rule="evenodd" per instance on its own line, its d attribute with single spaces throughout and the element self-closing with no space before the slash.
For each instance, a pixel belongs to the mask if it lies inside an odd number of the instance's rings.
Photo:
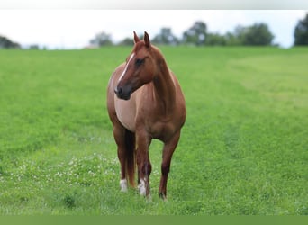
<svg viewBox="0 0 308 225">
<path fill-rule="evenodd" d="M 149 144 L 151 139 L 145 132 L 136 132 L 137 135 L 137 166 L 138 189 L 141 195 L 149 197 L 149 175 L 152 166 L 149 161 Z"/>
</svg>

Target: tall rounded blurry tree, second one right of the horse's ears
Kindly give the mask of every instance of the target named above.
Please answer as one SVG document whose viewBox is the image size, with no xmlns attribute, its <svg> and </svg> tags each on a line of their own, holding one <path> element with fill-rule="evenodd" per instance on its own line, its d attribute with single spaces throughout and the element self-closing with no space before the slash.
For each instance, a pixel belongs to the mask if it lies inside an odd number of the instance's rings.
<svg viewBox="0 0 308 225">
<path fill-rule="evenodd" d="M 206 39 L 206 24 L 201 21 L 194 23 L 187 31 L 183 33 L 183 43 L 194 44 L 197 46 L 204 45 Z"/>
</svg>

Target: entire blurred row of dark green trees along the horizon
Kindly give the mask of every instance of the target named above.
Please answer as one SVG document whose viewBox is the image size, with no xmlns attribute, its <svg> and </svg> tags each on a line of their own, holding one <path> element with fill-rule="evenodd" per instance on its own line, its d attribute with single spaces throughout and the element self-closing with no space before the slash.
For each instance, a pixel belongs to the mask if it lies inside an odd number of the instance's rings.
<svg viewBox="0 0 308 225">
<path fill-rule="evenodd" d="M 142 38 L 142 35 L 140 35 Z M 238 25 L 233 31 L 224 35 L 208 31 L 206 23 L 195 22 L 183 32 L 182 37 L 173 34 L 170 28 L 161 28 L 159 33 L 152 38 L 154 44 L 159 45 L 193 45 L 193 46 L 276 46 L 273 42 L 274 35 L 266 23 L 254 23 L 250 26 Z M 110 45 L 133 45 L 132 38 L 125 38 L 114 43 L 112 35 L 104 31 L 95 35 L 89 41 L 93 47 Z M 303 20 L 298 21 L 294 28 L 294 46 L 308 45 L 308 14 Z M 8 40 L 0 35 L 0 49 L 19 49 L 21 45 Z M 32 45 L 30 49 L 38 49 Z"/>
</svg>

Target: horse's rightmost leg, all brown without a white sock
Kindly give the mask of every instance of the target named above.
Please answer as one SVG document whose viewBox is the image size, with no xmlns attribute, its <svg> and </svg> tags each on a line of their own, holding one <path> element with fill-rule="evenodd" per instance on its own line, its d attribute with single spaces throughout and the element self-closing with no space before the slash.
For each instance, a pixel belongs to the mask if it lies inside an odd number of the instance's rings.
<svg viewBox="0 0 308 225">
<path fill-rule="evenodd" d="M 162 163 L 161 163 L 161 176 L 159 184 L 159 197 L 166 199 L 167 198 L 167 181 L 168 174 L 170 171 L 170 164 L 172 155 L 177 148 L 178 139 L 180 137 L 180 131 L 165 143 L 163 152 L 162 152 Z"/>
</svg>

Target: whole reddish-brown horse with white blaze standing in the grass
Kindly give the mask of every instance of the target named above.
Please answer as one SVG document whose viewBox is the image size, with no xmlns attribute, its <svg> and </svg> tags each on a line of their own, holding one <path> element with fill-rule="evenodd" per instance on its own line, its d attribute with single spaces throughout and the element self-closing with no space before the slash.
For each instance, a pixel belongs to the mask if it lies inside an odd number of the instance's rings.
<svg viewBox="0 0 308 225">
<path fill-rule="evenodd" d="M 186 120 L 186 104 L 176 76 L 159 49 L 150 44 L 147 32 L 144 40 L 134 32 L 131 54 L 109 80 L 107 107 L 121 164 L 121 190 L 127 191 L 127 180 L 135 186 L 137 164 L 138 189 L 149 197 L 149 145 L 151 139 L 159 139 L 164 143 L 159 196 L 165 199 L 171 157 Z"/>
</svg>

